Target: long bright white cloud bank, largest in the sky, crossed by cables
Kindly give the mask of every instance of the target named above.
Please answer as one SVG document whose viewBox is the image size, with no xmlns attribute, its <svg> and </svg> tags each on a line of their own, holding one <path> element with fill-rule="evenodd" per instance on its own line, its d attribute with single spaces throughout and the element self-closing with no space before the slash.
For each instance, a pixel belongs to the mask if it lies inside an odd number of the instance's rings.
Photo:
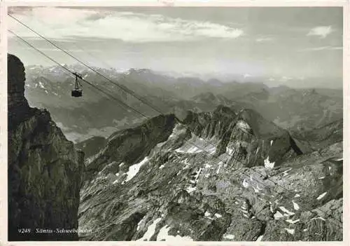
<svg viewBox="0 0 350 246">
<path fill-rule="evenodd" d="M 142 43 L 204 38 L 237 39 L 244 35 L 242 29 L 214 22 L 132 12 L 46 7 L 21 11 L 14 16 L 50 39 L 99 38 Z M 9 27 L 16 34 L 36 36 L 15 20 L 9 19 Z"/>
</svg>

